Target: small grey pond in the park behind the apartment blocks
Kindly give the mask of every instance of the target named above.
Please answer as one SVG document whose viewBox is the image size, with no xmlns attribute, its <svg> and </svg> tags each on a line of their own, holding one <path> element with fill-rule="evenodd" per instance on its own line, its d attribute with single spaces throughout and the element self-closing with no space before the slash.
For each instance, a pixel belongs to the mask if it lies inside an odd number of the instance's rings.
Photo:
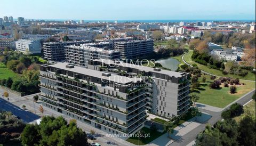
<svg viewBox="0 0 256 146">
<path fill-rule="evenodd" d="M 173 59 L 173 58 L 163 58 L 163 59 L 159 59 L 157 61 L 155 61 L 156 63 L 160 63 L 162 64 L 163 67 L 165 68 L 169 68 L 172 71 L 175 71 L 178 69 L 179 64 L 181 63 L 180 61 L 178 61 L 177 59 Z"/>
</svg>

